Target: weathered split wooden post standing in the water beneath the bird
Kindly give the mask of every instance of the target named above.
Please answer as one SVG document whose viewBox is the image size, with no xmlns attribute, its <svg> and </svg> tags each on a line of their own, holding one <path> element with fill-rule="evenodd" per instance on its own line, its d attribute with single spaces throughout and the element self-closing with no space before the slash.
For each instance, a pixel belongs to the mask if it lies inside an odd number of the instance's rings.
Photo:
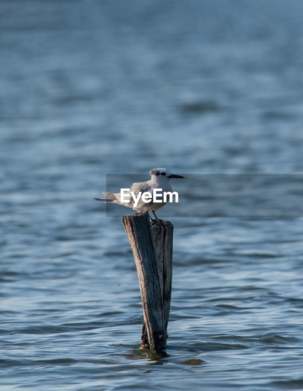
<svg viewBox="0 0 303 391">
<path fill-rule="evenodd" d="M 172 292 L 172 239 L 170 221 L 151 222 L 148 213 L 123 216 L 122 222 L 133 250 L 143 305 L 141 348 L 166 348 Z"/>
</svg>

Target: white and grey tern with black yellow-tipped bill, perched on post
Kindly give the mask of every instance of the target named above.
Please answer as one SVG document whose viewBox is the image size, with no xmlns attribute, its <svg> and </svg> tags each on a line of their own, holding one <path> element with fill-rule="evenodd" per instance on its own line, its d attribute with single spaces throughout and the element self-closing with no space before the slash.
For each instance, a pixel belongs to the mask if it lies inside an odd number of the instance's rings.
<svg viewBox="0 0 303 391">
<path fill-rule="evenodd" d="M 129 189 L 129 194 L 124 194 L 124 198 L 126 199 L 127 195 L 130 195 L 131 192 L 135 195 L 136 200 L 134 197 L 129 196 L 129 202 L 125 202 L 125 199 L 121 201 L 121 193 L 105 193 L 102 192 L 106 197 L 108 198 L 94 198 L 97 201 L 103 201 L 105 203 L 113 203 L 113 204 L 119 204 L 128 206 L 129 208 L 133 208 L 133 210 L 136 210 L 137 212 L 149 212 L 149 210 L 152 211 L 154 214 L 156 220 L 159 220 L 158 217 L 155 214 L 155 211 L 162 206 L 164 206 L 167 201 L 165 201 L 163 198 L 161 202 L 159 202 L 159 197 L 162 195 L 163 192 L 171 192 L 172 187 L 170 186 L 170 179 L 172 178 L 184 178 L 185 176 L 181 175 L 175 175 L 172 174 L 169 170 L 164 168 L 159 169 L 153 169 L 149 172 L 149 175 L 151 176 L 151 179 L 146 182 L 135 182 L 133 185 L 131 185 L 131 188 Z M 143 194 L 144 192 L 149 192 L 153 194 L 154 189 L 162 189 L 162 192 L 158 191 L 157 193 L 157 199 L 158 202 L 154 202 L 153 199 L 150 200 L 150 202 L 144 202 L 142 197 L 138 198 L 138 195 Z M 121 189 L 122 190 L 122 189 Z M 124 189 L 125 190 L 125 189 Z M 141 194 L 140 194 L 141 192 Z M 150 219 L 154 221 L 151 216 L 149 215 Z"/>
</svg>

